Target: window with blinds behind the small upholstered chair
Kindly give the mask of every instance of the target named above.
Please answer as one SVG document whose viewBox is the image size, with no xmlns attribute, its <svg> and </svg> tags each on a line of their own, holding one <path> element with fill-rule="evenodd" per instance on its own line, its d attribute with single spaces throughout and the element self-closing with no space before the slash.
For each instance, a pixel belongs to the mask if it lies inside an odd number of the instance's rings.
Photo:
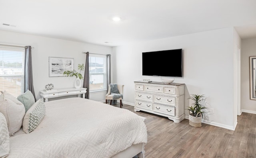
<svg viewBox="0 0 256 158">
<path fill-rule="evenodd" d="M 106 55 L 89 55 L 90 92 L 107 90 Z"/>
</svg>

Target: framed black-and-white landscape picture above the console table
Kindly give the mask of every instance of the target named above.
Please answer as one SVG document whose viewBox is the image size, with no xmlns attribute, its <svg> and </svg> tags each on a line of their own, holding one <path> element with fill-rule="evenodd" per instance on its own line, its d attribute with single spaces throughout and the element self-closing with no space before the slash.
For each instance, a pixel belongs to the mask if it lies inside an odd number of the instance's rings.
<svg viewBox="0 0 256 158">
<path fill-rule="evenodd" d="M 74 58 L 49 57 L 49 77 L 62 77 L 66 70 L 74 70 Z"/>
</svg>

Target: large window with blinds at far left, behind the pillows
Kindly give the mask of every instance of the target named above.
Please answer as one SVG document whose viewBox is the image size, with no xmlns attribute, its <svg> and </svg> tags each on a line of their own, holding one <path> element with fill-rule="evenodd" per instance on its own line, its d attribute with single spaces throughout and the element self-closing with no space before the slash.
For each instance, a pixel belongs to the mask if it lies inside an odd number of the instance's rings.
<svg viewBox="0 0 256 158">
<path fill-rule="evenodd" d="M 0 90 L 19 96 L 24 93 L 25 50 L 0 47 Z"/>
</svg>

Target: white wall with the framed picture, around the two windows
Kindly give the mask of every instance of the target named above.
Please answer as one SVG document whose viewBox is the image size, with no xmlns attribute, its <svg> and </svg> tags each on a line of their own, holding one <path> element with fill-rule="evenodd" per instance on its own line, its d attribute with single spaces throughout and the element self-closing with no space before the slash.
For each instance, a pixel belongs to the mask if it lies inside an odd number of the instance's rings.
<svg viewBox="0 0 256 158">
<path fill-rule="evenodd" d="M 82 52 L 112 54 L 112 47 L 8 31 L 0 31 L 0 44 L 34 47 L 32 70 L 36 99 L 40 98 L 39 91 L 44 90 L 44 86 L 49 83 L 54 84 L 55 89 L 74 87 L 75 77 L 49 77 L 49 57 L 74 58 L 74 68 L 78 70 L 78 64 L 85 64 L 85 54 Z M 102 101 L 105 100 L 105 95 L 106 92 L 90 94 L 90 99 Z"/>
</svg>

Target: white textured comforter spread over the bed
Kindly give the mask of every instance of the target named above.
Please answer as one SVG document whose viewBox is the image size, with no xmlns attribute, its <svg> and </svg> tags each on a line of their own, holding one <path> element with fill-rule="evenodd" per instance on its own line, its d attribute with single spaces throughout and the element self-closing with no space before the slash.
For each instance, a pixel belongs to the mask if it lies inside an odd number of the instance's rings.
<svg viewBox="0 0 256 158">
<path fill-rule="evenodd" d="M 35 131 L 10 137 L 8 158 L 110 158 L 147 142 L 143 119 L 129 110 L 83 98 L 45 105 L 46 115 Z"/>
</svg>

